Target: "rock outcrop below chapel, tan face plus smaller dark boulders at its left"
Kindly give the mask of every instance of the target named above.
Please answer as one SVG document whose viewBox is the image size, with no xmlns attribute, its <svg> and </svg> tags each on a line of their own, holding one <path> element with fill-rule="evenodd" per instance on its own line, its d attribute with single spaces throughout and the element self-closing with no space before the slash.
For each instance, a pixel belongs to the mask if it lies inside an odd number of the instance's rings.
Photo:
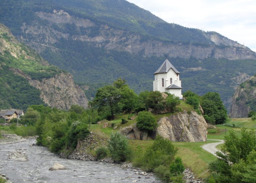
<svg viewBox="0 0 256 183">
<path fill-rule="evenodd" d="M 155 132 L 139 131 L 136 124 L 120 129 L 121 134 L 126 135 L 128 139 L 148 140 L 154 139 L 156 135 L 170 141 L 205 141 L 207 138 L 207 124 L 203 116 L 195 111 L 188 114 L 186 111 L 179 112 L 170 117 L 162 117 L 158 121 L 158 127 Z"/>
</svg>

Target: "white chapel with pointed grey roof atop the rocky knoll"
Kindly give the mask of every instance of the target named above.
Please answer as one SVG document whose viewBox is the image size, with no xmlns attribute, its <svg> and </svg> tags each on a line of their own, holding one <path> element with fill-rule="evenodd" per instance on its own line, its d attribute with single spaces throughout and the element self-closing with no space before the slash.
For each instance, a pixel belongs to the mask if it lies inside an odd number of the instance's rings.
<svg viewBox="0 0 256 183">
<path fill-rule="evenodd" d="M 153 81 L 153 91 L 168 92 L 182 99 L 180 74 L 181 73 L 166 58 L 154 73 L 155 80 Z"/>
</svg>

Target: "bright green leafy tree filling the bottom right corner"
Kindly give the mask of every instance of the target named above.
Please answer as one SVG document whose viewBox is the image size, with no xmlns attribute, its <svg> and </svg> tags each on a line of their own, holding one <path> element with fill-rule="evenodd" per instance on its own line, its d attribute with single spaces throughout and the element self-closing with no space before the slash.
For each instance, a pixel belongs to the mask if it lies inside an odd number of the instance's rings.
<svg viewBox="0 0 256 183">
<path fill-rule="evenodd" d="M 242 128 L 241 138 L 234 130 L 224 137 L 222 152 L 210 164 L 217 182 L 256 182 L 256 135 Z"/>
</svg>

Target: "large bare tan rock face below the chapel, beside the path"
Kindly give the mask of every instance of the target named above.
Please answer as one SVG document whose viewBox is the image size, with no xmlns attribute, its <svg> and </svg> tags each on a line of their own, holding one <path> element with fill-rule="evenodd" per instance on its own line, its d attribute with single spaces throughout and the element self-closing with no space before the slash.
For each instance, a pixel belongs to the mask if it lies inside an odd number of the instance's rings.
<svg viewBox="0 0 256 183">
<path fill-rule="evenodd" d="M 158 121 L 157 133 L 170 141 L 205 141 L 207 124 L 203 116 L 195 111 L 179 112 L 170 117 L 162 117 Z"/>
</svg>

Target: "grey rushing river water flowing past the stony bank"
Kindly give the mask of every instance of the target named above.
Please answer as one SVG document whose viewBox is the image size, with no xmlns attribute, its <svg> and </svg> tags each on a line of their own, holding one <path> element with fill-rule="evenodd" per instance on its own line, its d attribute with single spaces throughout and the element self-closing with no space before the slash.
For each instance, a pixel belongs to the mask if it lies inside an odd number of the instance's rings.
<svg viewBox="0 0 256 183">
<path fill-rule="evenodd" d="M 0 145 L 0 173 L 13 183 L 159 182 L 154 176 L 145 178 L 132 169 L 123 170 L 109 163 L 59 158 L 45 147 L 31 146 L 32 143 L 35 140 Z M 26 153 L 28 161 L 8 160 L 9 152 L 19 149 Z M 49 171 L 54 163 L 67 169 Z"/>
</svg>

